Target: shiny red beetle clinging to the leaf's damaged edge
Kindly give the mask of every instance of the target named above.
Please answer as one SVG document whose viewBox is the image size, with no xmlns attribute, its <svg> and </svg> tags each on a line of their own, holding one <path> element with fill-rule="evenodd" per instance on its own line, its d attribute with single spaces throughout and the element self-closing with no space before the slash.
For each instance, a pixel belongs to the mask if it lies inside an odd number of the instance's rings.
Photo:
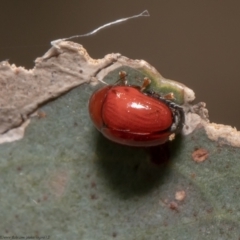
<svg viewBox="0 0 240 240">
<path fill-rule="evenodd" d="M 89 113 L 95 127 L 108 139 L 128 146 L 156 146 L 181 131 L 183 108 L 169 95 L 160 96 L 143 90 L 143 86 L 128 85 L 126 72 L 120 72 L 115 85 L 94 92 L 89 100 Z"/>
</svg>

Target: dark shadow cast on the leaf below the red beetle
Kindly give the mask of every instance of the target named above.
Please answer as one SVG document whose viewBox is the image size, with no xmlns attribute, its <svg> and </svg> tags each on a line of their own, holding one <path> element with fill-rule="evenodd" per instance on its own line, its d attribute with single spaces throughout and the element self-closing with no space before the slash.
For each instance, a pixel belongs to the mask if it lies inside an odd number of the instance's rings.
<svg viewBox="0 0 240 240">
<path fill-rule="evenodd" d="M 107 185 L 127 199 L 161 186 L 171 172 L 169 144 L 150 148 L 128 147 L 97 134 L 98 169 Z"/>
</svg>

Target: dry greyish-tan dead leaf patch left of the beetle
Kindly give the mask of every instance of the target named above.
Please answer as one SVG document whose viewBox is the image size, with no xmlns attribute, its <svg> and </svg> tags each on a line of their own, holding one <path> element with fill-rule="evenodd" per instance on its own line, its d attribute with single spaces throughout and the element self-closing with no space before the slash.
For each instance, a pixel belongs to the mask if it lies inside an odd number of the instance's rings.
<svg viewBox="0 0 240 240">
<path fill-rule="evenodd" d="M 92 81 L 119 56 L 108 54 L 95 60 L 81 45 L 62 41 L 58 48 L 52 47 L 43 57 L 37 58 L 33 69 L 0 62 L 0 138 L 4 135 L 6 139 L 8 131 L 24 124 L 39 105 Z M 20 133 L 23 131 L 16 131 L 17 135 Z M 11 132 L 7 139 L 14 141 L 22 137 L 13 136 Z"/>
</svg>

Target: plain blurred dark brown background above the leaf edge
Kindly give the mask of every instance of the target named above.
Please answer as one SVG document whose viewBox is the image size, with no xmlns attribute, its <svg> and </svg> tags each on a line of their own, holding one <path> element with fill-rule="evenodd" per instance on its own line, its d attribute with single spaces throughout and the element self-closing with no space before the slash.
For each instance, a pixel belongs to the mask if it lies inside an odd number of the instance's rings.
<svg viewBox="0 0 240 240">
<path fill-rule="evenodd" d="M 84 34 L 148 9 L 137 18 L 76 39 L 93 58 L 119 52 L 144 59 L 192 88 L 210 120 L 240 128 L 240 1 L 2 0 L 0 60 L 32 68 L 50 41 Z"/>
</svg>

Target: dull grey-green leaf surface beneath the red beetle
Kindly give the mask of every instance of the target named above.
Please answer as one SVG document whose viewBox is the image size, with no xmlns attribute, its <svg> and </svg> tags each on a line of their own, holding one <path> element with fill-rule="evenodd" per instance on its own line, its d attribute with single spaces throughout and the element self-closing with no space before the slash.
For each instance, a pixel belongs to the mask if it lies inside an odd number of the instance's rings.
<svg viewBox="0 0 240 240">
<path fill-rule="evenodd" d="M 240 150 L 203 130 L 170 143 L 170 160 L 105 139 L 89 85 L 49 102 L 25 137 L 0 145 L 0 232 L 50 239 L 239 239 Z M 209 157 L 192 159 L 196 148 Z M 178 191 L 186 196 L 175 199 Z"/>
</svg>

